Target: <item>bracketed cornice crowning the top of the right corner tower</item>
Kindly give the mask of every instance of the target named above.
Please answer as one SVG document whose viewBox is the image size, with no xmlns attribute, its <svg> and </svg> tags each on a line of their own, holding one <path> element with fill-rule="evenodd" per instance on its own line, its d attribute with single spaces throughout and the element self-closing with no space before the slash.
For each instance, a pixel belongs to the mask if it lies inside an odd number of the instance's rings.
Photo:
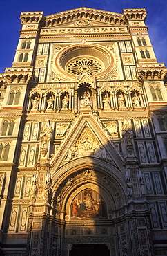
<svg viewBox="0 0 167 256">
<path fill-rule="evenodd" d="M 144 20 L 146 18 L 146 9 L 123 9 L 124 16 L 130 20 Z"/>
</svg>

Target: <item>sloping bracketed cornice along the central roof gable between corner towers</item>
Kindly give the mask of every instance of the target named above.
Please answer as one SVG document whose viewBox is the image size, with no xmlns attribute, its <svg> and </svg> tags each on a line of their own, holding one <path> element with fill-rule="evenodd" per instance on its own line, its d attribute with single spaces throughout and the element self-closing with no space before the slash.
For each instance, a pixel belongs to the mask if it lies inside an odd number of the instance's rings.
<svg viewBox="0 0 167 256">
<path fill-rule="evenodd" d="M 89 19 L 93 21 L 106 22 L 108 24 L 126 25 L 124 15 L 122 14 L 86 7 L 76 8 L 66 12 L 59 12 L 55 15 L 48 15 L 45 18 L 46 26 L 57 26 L 77 19 Z"/>
</svg>

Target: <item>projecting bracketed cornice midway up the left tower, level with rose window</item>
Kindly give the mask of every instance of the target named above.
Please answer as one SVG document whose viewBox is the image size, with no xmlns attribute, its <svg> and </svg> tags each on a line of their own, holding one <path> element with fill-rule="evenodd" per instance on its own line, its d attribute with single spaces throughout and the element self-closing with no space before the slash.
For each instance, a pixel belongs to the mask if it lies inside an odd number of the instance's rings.
<svg viewBox="0 0 167 256">
<path fill-rule="evenodd" d="M 6 68 L 4 78 L 7 83 L 27 84 L 30 79 L 33 79 L 33 68 Z"/>
</svg>

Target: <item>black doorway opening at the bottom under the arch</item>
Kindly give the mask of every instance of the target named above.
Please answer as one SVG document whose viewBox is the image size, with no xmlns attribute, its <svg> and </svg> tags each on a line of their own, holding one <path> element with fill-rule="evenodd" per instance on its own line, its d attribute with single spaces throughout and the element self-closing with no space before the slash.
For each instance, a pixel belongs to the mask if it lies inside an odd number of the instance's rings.
<svg viewBox="0 0 167 256">
<path fill-rule="evenodd" d="M 106 244 L 73 244 L 69 256 L 110 256 Z"/>
</svg>

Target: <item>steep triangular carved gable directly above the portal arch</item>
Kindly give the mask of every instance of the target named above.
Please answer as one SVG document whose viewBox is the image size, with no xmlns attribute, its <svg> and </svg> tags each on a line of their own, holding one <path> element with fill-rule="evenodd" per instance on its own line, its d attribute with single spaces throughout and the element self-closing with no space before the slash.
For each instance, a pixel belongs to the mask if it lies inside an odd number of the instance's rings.
<svg viewBox="0 0 167 256">
<path fill-rule="evenodd" d="M 123 159 L 110 138 L 90 115 L 80 116 L 71 127 L 52 159 L 52 170 L 55 172 L 60 166 L 83 156 L 101 158 L 119 167 L 119 170 L 123 164 Z"/>
</svg>

